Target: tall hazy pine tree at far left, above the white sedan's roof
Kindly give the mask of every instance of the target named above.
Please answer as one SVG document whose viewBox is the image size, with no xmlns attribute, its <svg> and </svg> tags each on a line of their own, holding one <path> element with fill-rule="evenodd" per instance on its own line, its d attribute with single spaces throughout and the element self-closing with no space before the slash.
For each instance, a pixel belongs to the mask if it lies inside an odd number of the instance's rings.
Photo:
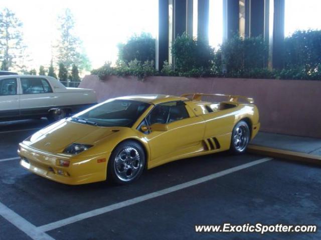
<svg viewBox="0 0 321 240">
<path fill-rule="evenodd" d="M 8 8 L 0 12 L 0 55 L 7 67 L 19 67 L 17 61 L 24 58 L 26 46 L 23 43 L 22 22 Z"/>
</svg>

